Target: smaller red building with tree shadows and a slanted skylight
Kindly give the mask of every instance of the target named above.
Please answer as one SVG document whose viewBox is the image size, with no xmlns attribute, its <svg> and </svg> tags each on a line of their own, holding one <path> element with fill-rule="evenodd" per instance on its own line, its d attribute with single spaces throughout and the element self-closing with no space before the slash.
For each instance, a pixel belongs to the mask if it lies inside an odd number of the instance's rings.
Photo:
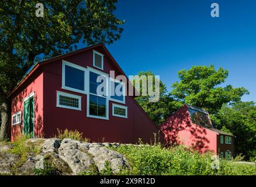
<svg viewBox="0 0 256 187">
<path fill-rule="evenodd" d="M 184 105 L 160 126 L 167 144 L 178 143 L 222 158 L 234 156 L 234 136 L 213 128 L 209 113 Z"/>
</svg>

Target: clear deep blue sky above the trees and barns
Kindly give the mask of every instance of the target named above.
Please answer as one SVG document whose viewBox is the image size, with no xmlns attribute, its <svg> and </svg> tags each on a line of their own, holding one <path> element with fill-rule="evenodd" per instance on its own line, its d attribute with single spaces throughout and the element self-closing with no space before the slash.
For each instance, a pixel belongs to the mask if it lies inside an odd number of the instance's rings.
<svg viewBox="0 0 256 187">
<path fill-rule="evenodd" d="M 217 2 L 220 17 L 210 16 Z M 126 75 L 151 70 L 171 90 L 177 72 L 192 65 L 229 70 L 225 84 L 244 86 L 256 102 L 256 1 L 119 0 L 119 41 L 107 46 Z"/>
</svg>

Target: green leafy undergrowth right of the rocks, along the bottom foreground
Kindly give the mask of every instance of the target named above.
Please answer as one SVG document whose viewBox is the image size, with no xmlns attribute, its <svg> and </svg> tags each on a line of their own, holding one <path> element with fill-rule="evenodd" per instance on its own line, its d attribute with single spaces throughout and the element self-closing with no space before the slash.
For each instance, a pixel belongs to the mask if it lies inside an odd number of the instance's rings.
<svg viewBox="0 0 256 187">
<path fill-rule="evenodd" d="M 123 154 L 132 169 L 120 172 L 125 175 L 255 175 L 255 167 L 244 167 L 219 160 L 217 167 L 211 153 L 200 154 L 184 146 L 163 148 L 153 146 L 120 145 L 113 150 Z M 241 167 L 241 166 L 240 166 Z"/>
</svg>

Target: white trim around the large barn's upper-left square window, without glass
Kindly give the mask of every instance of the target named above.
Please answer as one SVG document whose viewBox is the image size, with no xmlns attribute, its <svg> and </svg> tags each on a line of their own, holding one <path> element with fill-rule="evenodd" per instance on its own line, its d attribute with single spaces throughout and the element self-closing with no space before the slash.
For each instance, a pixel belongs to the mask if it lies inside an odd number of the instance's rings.
<svg viewBox="0 0 256 187">
<path fill-rule="evenodd" d="M 84 71 L 84 91 L 80 90 L 80 89 L 75 89 L 75 88 L 71 88 L 71 87 L 68 87 L 68 86 L 65 86 L 65 65 L 68 65 L 72 68 L 75 68 L 77 70 L 81 70 L 81 71 Z M 74 63 L 70 63 L 68 61 L 65 61 L 65 60 L 62 60 L 62 86 L 61 88 L 62 89 L 66 89 L 68 91 L 72 91 L 72 92 L 78 92 L 78 93 L 84 93 L 86 94 L 87 93 L 87 69 L 85 67 L 81 67 L 80 65 L 77 65 L 77 64 L 74 64 Z"/>
</svg>

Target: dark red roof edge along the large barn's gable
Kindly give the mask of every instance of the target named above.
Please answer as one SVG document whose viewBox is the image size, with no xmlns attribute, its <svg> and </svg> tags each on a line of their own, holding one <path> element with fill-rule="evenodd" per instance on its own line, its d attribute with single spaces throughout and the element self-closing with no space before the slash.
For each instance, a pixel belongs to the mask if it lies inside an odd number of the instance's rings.
<svg viewBox="0 0 256 187">
<path fill-rule="evenodd" d="M 115 64 L 115 66 L 117 67 L 117 70 L 119 70 L 121 72 L 121 74 L 123 74 L 126 78 L 126 74 L 124 74 L 123 70 L 120 68 L 120 66 L 117 64 L 116 60 L 112 57 L 112 55 L 109 53 L 108 49 L 106 49 L 106 47 L 104 46 L 104 44 L 100 43 L 100 44 L 96 44 L 94 46 L 89 46 L 89 47 L 84 47 L 82 49 L 79 50 L 75 50 L 75 51 L 71 51 L 70 53 L 66 53 L 66 54 L 62 54 L 60 56 L 56 56 L 56 57 L 52 57 L 52 58 L 48 58 L 47 60 L 43 60 L 43 61 L 39 61 L 36 64 L 32 65 L 32 67 L 29 68 L 29 70 L 27 70 L 27 72 L 25 73 L 25 75 L 22 77 L 22 79 L 20 79 L 20 81 L 18 82 L 18 84 L 15 86 L 15 88 L 12 89 L 11 93 L 9 94 L 9 96 L 11 96 L 16 90 L 18 90 L 20 88 L 20 86 L 22 86 L 27 79 L 29 79 L 30 77 L 32 77 L 32 75 L 34 74 L 34 72 L 36 72 L 37 70 L 39 70 L 39 68 L 45 64 L 49 64 L 49 63 L 53 63 L 54 61 L 57 60 L 61 60 L 63 58 L 67 58 L 70 57 L 72 55 L 78 54 L 78 53 L 82 53 L 84 51 L 88 51 L 88 50 L 92 50 L 95 49 L 96 47 L 102 47 L 103 51 L 105 51 L 106 55 L 110 58 L 111 61 L 113 61 L 113 63 Z M 129 79 L 127 78 L 128 83 L 132 84 Z M 136 89 L 135 89 L 136 91 Z M 8 97 L 9 97 L 8 96 Z M 135 96 L 134 96 L 135 97 Z"/>
</svg>

